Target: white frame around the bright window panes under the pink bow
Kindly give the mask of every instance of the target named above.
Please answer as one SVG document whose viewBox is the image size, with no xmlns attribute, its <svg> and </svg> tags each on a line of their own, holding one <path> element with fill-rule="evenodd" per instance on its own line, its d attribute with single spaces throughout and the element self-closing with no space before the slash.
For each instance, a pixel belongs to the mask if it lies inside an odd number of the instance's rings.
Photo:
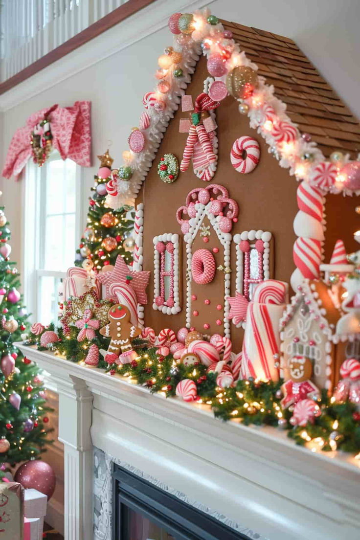
<svg viewBox="0 0 360 540">
<path fill-rule="evenodd" d="M 53 152 L 49 160 L 59 158 L 59 154 Z M 25 181 L 22 186 L 23 215 L 22 215 L 22 268 L 23 289 L 25 305 L 31 313 L 31 321 L 37 322 L 40 306 L 39 279 L 42 276 L 51 276 L 59 286 L 61 279 L 66 277 L 64 271 L 52 271 L 41 269 L 44 261 L 44 231 L 45 205 L 44 193 L 46 193 L 46 163 L 38 167 L 32 161 L 28 161 L 25 167 Z M 43 196 L 42 196 L 43 192 Z M 80 241 L 83 226 L 83 168 L 76 165 L 76 199 L 75 199 L 75 235 L 76 244 Z M 74 253 L 75 260 L 76 253 Z M 53 321 L 57 322 L 57 321 Z"/>
</svg>

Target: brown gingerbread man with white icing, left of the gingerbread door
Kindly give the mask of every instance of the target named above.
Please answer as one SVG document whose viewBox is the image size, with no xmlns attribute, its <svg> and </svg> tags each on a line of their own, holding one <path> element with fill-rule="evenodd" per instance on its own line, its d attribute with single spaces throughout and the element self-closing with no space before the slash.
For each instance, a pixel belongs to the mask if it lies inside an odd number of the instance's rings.
<svg viewBox="0 0 360 540">
<path fill-rule="evenodd" d="M 106 338 L 111 338 L 107 352 L 110 354 L 126 354 L 132 350 L 131 342 L 141 334 L 141 329 L 130 321 L 130 311 L 123 304 L 112 306 L 107 314 L 108 325 L 100 328 L 99 332 Z"/>
</svg>

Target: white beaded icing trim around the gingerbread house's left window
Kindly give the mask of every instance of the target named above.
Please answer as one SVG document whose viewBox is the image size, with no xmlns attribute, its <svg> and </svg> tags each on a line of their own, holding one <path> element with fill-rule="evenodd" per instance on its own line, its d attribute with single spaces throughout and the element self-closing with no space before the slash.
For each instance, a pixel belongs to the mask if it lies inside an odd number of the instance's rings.
<svg viewBox="0 0 360 540">
<path fill-rule="evenodd" d="M 155 298 L 160 295 L 160 253 L 158 252 L 156 245 L 158 242 L 171 242 L 174 246 L 174 288 L 173 288 L 173 296 L 174 296 L 174 305 L 172 307 L 168 307 L 165 305 L 157 306 L 155 303 Z M 179 249 L 179 234 L 173 234 L 173 233 L 164 233 L 159 234 L 158 236 L 153 238 L 153 244 L 154 244 L 154 302 L 153 302 L 153 309 L 155 311 L 159 310 L 164 315 L 176 315 L 176 313 L 179 313 L 181 311 L 180 306 L 180 286 L 179 286 L 179 275 L 180 275 L 180 249 Z"/>
</svg>

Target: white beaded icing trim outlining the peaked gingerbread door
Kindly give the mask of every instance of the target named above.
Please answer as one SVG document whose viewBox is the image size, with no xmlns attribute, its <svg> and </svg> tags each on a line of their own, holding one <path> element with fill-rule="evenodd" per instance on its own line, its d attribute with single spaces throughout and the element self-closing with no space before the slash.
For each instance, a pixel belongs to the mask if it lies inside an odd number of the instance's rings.
<svg viewBox="0 0 360 540">
<path fill-rule="evenodd" d="M 189 220 L 190 230 L 184 236 L 186 242 L 186 257 L 187 257 L 187 270 L 186 270 L 186 327 L 191 327 L 191 261 L 192 261 L 192 244 L 193 240 L 198 234 L 199 228 L 205 218 L 209 219 L 217 237 L 220 240 L 221 245 L 224 247 L 224 262 L 223 266 L 230 266 L 230 243 L 232 235 L 230 233 L 223 233 L 220 230 L 218 218 L 210 212 L 212 201 L 203 205 L 201 203 L 195 203 L 196 215 L 195 218 Z M 230 338 L 230 321 L 228 320 L 228 314 L 230 311 L 230 305 L 227 298 L 230 296 L 230 274 L 224 274 L 224 334 L 226 338 Z"/>
</svg>

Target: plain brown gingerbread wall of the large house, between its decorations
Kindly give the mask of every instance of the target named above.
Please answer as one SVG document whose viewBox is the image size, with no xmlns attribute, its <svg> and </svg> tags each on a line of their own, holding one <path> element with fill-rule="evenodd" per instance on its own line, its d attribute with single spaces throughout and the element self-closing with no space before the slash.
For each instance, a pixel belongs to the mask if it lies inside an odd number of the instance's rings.
<svg viewBox="0 0 360 540">
<path fill-rule="evenodd" d="M 187 94 L 196 96 L 202 92 L 203 80 L 208 76 L 206 62 L 204 58 L 199 60 L 192 83 L 187 88 Z M 153 237 L 163 233 L 179 233 L 182 238 L 180 226 L 176 221 L 176 209 L 185 204 L 185 199 L 189 191 L 195 187 L 206 187 L 206 183 L 198 179 L 192 169 L 192 164 L 184 173 L 180 173 L 178 179 L 173 184 L 163 183 L 157 173 L 157 166 L 161 156 L 165 153 L 173 153 L 181 161 L 182 152 L 186 143 L 187 135 L 179 133 L 179 119 L 187 118 L 188 113 L 183 113 L 181 107 L 175 113 L 174 118 L 169 123 L 165 137 L 160 145 L 157 157 L 147 175 L 147 179 L 142 187 L 137 203 L 144 202 L 144 269 L 151 271 L 150 284 L 148 286 L 148 304 L 145 306 L 146 326 L 154 328 L 159 332 L 161 328 L 171 327 L 174 330 L 185 326 L 186 312 L 186 292 L 184 290 L 182 311 L 178 315 L 164 315 L 152 308 L 153 302 Z M 219 162 L 213 183 L 225 186 L 229 191 L 229 197 L 234 199 L 239 205 L 239 220 L 234 224 L 232 234 L 252 229 L 270 231 L 274 237 L 274 278 L 282 281 L 290 281 L 291 273 L 294 271 L 293 244 L 296 236 L 293 231 L 293 221 L 297 213 L 296 188 L 298 186 L 294 177 L 290 177 L 286 169 L 279 166 L 277 160 L 268 153 L 268 146 L 263 138 L 257 134 L 256 130 L 249 127 L 249 119 L 238 111 L 238 104 L 232 97 L 227 97 L 216 111 L 216 122 L 218 124 L 219 138 Z M 254 137 L 260 144 L 260 163 L 255 170 L 249 174 L 236 172 L 230 163 L 230 150 L 234 141 L 243 136 Z M 349 250 L 356 249 L 352 239 L 349 239 L 349 231 L 356 228 L 356 220 L 360 221 L 355 214 L 355 198 L 343 198 L 341 196 L 330 195 L 327 204 L 328 231 L 325 245 L 325 255 L 328 260 L 337 238 L 343 238 L 345 246 Z M 334 220 L 335 216 L 343 216 Z M 335 224 L 337 222 L 337 225 Z M 350 223 L 350 225 L 349 225 Z M 214 233 L 213 233 L 214 234 Z M 183 242 L 184 244 L 184 242 Z M 329 246 L 329 247 L 328 247 Z M 183 245 L 184 247 L 184 245 Z M 198 247 L 211 248 L 213 246 L 204 244 Z M 236 277 L 236 255 L 235 244 L 232 243 L 231 252 L 231 294 L 235 294 Z M 184 253 L 183 249 L 183 253 Z M 219 264 L 221 264 L 221 260 Z M 216 260 L 218 264 L 218 260 Z M 182 257 L 182 275 L 185 285 L 186 258 Z M 222 278 L 223 274 L 221 274 Z M 215 282 L 219 282 L 222 287 L 222 279 L 216 276 Z M 206 285 L 203 287 L 207 287 Z M 208 289 L 210 292 L 210 288 Z M 207 293 L 204 293 L 205 295 Z M 209 295 L 214 295 L 213 286 Z M 217 296 L 215 294 L 215 296 Z M 203 330 L 203 324 L 209 319 L 215 318 L 217 300 L 210 303 L 207 312 L 202 309 L 197 319 L 196 329 Z M 222 333 L 223 327 L 210 328 L 207 333 L 214 331 Z M 233 350 L 240 350 L 242 342 L 242 330 L 231 327 Z"/>
</svg>

